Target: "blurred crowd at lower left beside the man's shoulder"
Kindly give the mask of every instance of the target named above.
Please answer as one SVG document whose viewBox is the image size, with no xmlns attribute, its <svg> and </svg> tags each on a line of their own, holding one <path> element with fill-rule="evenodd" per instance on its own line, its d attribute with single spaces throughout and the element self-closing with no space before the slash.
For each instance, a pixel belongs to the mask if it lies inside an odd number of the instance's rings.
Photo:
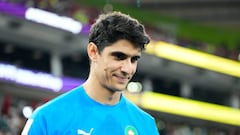
<svg viewBox="0 0 240 135">
<path fill-rule="evenodd" d="M 27 100 L 0 93 L 0 135 L 20 135 L 32 111 L 49 99 Z"/>
</svg>

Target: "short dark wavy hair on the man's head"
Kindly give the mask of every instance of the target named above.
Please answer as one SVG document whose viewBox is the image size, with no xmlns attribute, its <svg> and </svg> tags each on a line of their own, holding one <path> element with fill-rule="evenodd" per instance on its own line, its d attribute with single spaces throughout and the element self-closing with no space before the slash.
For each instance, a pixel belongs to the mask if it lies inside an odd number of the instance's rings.
<svg viewBox="0 0 240 135">
<path fill-rule="evenodd" d="M 100 52 L 120 39 L 126 39 L 142 50 L 150 42 L 144 26 L 138 20 L 116 11 L 100 15 L 89 34 L 89 42 L 95 43 Z"/>
</svg>

